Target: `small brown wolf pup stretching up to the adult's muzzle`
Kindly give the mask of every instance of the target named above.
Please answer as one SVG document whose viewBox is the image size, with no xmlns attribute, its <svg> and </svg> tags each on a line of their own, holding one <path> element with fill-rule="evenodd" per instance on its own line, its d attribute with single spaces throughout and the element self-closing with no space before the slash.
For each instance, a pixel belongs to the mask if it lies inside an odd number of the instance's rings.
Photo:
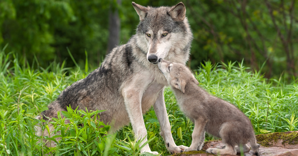
<svg viewBox="0 0 298 156">
<path fill-rule="evenodd" d="M 181 111 L 195 124 L 192 143 L 184 151 L 201 150 L 207 131 L 225 144 L 224 149 L 207 149 L 208 153 L 236 155 L 240 153 L 240 146 L 244 153 L 249 152 L 246 145 L 249 141 L 254 154 L 258 155 L 260 145 L 252 124 L 237 107 L 197 86 L 198 81 L 185 65 L 159 59 L 158 67 L 173 89 Z"/>
</svg>

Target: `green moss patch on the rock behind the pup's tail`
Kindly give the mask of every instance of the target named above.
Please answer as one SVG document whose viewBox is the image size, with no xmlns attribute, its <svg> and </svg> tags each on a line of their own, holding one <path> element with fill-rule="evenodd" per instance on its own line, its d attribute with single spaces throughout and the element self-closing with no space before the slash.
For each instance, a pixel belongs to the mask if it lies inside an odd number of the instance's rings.
<svg viewBox="0 0 298 156">
<path fill-rule="evenodd" d="M 298 144 L 298 133 L 292 132 L 281 132 L 281 133 L 268 133 L 268 134 L 260 134 L 256 136 L 257 141 L 262 146 L 270 147 L 272 146 L 272 143 L 277 143 L 278 140 L 282 139 L 282 144 L 290 144 L 290 145 L 296 145 Z"/>
</svg>

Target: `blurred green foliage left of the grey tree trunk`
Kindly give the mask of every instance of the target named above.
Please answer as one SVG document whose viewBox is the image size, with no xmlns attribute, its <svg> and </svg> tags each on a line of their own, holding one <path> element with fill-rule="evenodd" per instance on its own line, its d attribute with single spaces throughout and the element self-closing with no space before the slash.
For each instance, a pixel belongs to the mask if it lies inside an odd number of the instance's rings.
<svg viewBox="0 0 298 156">
<path fill-rule="evenodd" d="M 76 59 L 84 55 L 85 49 L 90 56 L 103 54 L 108 39 L 108 25 L 103 24 L 108 23 L 108 2 L 0 1 L 0 45 L 9 43 L 10 51 L 27 55 L 29 62 L 36 56 L 43 67 L 52 62 L 55 55 L 62 63 L 69 56 L 66 47 Z M 90 58 L 97 61 L 97 57 Z M 69 62 L 69 66 L 74 65 L 72 63 Z"/>
</svg>

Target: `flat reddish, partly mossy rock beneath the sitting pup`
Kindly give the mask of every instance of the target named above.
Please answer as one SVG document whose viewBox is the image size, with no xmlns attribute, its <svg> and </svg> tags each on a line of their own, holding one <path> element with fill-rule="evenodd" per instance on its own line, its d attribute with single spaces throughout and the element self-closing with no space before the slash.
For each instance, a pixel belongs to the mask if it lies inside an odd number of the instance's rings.
<svg viewBox="0 0 298 156">
<path fill-rule="evenodd" d="M 281 133 L 268 133 L 256 135 L 260 156 L 298 156 L 298 131 Z M 250 147 L 250 144 L 247 144 Z M 206 153 L 208 148 L 222 148 L 224 144 L 221 140 L 206 141 L 202 151 L 189 151 L 172 156 L 212 156 Z M 244 153 L 244 156 L 252 156 L 253 152 Z M 240 155 L 239 153 L 237 155 Z M 222 155 L 235 156 L 235 155 Z"/>
</svg>

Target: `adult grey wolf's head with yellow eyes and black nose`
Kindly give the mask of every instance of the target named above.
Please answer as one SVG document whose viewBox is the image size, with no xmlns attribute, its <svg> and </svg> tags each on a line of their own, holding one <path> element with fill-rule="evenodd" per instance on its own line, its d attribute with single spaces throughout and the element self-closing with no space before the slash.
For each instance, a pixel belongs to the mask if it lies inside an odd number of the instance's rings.
<svg viewBox="0 0 298 156">
<path fill-rule="evenodd" d="M 185 17 L 184 4 L 180 2 L 173 7 L 157 8 L 134 2 L 132 5 L 140 17 L 137 45 L 147 53 L 147 60 L 157 64 L 160 58 L 167 58 L 185 63 L 193 35 Z"/>
</svg>

